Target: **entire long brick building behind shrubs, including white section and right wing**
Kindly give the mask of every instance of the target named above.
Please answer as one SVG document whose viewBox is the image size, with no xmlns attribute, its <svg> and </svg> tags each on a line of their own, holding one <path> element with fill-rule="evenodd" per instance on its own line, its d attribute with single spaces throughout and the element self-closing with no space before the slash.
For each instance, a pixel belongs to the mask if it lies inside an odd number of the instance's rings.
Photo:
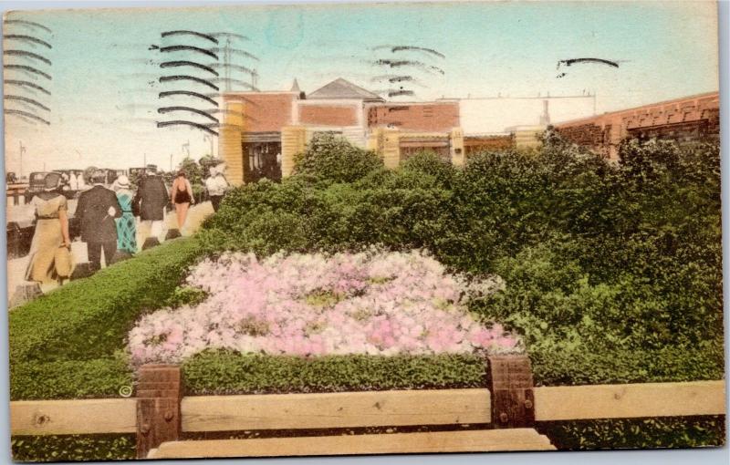
<svg viewBox="0 0 730 465">
<path fill-rule="evenodd" d="M 547 125 L 561 119 L 555 127 L 565 138 L 611 160 L 625 137 L 719 136 L 718 92 L 598 116 L 592 95 L 387 102 L 342 78 L 308 95 L 295 80 L 289 91 L 232 92 L 223 100 L 219 153 L 235 185 L 290 175 L 294 156 L 318 132 L 377 151 L 389 168 L 419 150 L 460 166 L 480 150 L 536 147 Z"/>
</svg>

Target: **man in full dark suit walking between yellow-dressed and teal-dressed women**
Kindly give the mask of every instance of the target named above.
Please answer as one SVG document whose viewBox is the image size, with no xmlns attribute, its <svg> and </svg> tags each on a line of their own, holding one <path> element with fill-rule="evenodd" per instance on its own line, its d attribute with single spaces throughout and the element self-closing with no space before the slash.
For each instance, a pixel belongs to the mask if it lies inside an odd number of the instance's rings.
<svg viewBox="0 0 730 465">
<path fill-rule="evenodd" d="M 104 187 L 105 181 L 104 171 L 92 173 L 91 182 L 94 186 L 81 192 L 74 213 L 81 228 L 81 240 L 87 246 L 92 271 L 101 268 L 102 249 L 107 265 L 117 251 L 117 222 L 114 219 L 121 216 L 121 207 L 114 191 Z"/>
</svg>

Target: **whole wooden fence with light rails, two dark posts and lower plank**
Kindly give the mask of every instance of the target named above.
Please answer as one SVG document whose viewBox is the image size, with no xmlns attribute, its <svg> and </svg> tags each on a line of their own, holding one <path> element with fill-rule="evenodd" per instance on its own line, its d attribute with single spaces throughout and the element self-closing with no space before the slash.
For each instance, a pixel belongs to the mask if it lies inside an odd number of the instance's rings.
<svg viewBox="0 0 730 465">
<path fill-rule="evenodd" d="M 489 388 L 184 398 L 178 367 L 142 367 L 137 398 L 11 402 L 11 434 L 136 433 L 139 458 L 537 450 L 555 448 L 533 429 L 536 421 L 725 415 L 724 380 L 532 387 L 523 369 L 527 357 L 495 358 L 488 365 Z M 472 427 L 314 437 L 296 432 L 422 425 Z M 294 437 L 180 440 L 183 433 L 262 429 Z"/>
</svg>

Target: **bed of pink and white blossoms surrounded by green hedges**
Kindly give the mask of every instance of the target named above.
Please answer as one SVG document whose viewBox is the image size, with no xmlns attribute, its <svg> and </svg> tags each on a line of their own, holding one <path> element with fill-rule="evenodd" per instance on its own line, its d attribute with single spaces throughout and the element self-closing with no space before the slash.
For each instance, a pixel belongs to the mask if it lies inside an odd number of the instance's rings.
<svg viewBox="0 0 730 465">
<path fill-rule="evenodd" d="M 498 278 L 467 283 L 425 253 L 226 253 L 199 263 L 188 284 L 203 303 L 145 315 L 131 330 L 135 364 L 177 363 L 210 348 L 242 353 L 437 354 L 521 351 L 502 325 L 480 325 L 469 295 Z"/>
</svg>

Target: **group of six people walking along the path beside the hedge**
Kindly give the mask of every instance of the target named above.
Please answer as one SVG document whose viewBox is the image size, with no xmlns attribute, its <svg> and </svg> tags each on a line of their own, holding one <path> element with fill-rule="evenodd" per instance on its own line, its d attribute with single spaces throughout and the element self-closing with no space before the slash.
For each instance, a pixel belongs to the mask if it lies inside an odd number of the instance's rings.
<svg viewBox="0 0 730 465">
<path fill-rule="evenodd" d="M 210 176 L 205 180 L 214 212 L 229 187 L 221 171 L 211 167 Z M 129 257 L 137 253 L 141 248 L 138 228 L 145 232 L 142 236 L 153 242 L 162 241 L 166 210 L 171 201 L 181 231 L 188 210 L 195 203 L 193 186 L 184 171 L 177 172 L 170 191 L 153 165 L 146 168 L 136 191 L 132 191 L 126 175 L 120 175 L 110 188 L 106 185 L 106 171 L 93 171 L 88 181 L 91 186 L 78 195 L 74 217 L 81 241 L 86 243 L 90 273 L 101 268 L 102 252 L 106 264 L 118 259 L 118 255 Z M 44 191 L 30 202 L 36 212 L 36 230 L 26 280 L 39 283 L 42 289 L 63 284 L 73 273 L 68 200 L 62 193 L 65 184 L 60 173 L 48 173 Z"/>
</svg>

